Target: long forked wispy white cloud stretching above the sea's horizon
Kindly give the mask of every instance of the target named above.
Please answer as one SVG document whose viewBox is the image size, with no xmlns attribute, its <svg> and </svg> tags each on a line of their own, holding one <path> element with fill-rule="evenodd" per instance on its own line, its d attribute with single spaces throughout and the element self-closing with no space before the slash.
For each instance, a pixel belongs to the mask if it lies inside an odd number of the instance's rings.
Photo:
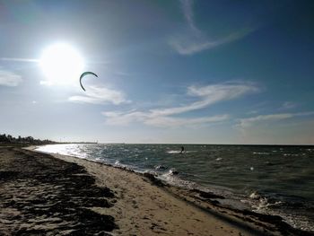
<svg viewBox="0 0 314 236">
<path fill-rule="evenodd" d="M 178 118 L 174 115 L 186 113 L 196 109 L 204 109 L 220 101 L 230 101 L 250 92 L 257 92 L 257 86 L 251 83 L 221 83 L 203 87 L 188 87 L 187 95 L 198 101 L 180 107 L 166 109 L 148 109 L 145 111 L 131 110 L 126 112 L 102 112 L 111 125 L 127 125 L 131 122 L 141 122 L 154 127 L 179 127 L 216 123 L 229 118 L 227 114 L 201 117 Z"/>
</svg>

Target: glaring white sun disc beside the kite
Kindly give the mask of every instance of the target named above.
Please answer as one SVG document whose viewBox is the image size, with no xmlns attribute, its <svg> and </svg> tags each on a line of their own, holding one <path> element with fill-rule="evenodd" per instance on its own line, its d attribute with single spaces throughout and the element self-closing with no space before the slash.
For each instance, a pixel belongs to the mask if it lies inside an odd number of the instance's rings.
<svg viewBox="0 0 314 236">
<path fill-rule="evenodd" d="M 71 45 L 57 43 L 46 48 L 39 59 L 46 76 L 44 83 L 66 85 L 78 81 L 83 73 L 83 57 Z"/>
</svg>

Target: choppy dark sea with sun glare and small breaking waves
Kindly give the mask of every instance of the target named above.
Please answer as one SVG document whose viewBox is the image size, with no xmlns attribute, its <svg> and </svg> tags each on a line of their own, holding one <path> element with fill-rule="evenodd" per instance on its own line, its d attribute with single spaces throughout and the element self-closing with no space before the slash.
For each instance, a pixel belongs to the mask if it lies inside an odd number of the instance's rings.
<svg viewBox="0 0 314 236">
<path fill-rule="evenodd" d="M 153 172 L 182 188 L 210 190 L 236 207 L 275 214 L 314 231 L 314 146 L 53 144 L 39 151 Z M 229 201 L 229 204 L 232 201 Z"/>
</svg>

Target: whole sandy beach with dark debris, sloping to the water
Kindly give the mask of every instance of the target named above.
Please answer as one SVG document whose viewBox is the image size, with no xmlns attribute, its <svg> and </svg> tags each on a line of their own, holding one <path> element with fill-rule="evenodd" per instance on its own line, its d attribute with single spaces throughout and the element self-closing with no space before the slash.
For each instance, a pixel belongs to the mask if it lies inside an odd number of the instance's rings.
<svg viewBox="0 0 314 236">
<path fill-rule="evenodd" d="M 152 174 L 0 147 L 0 235 L 310 235 Z"/>
</svg>

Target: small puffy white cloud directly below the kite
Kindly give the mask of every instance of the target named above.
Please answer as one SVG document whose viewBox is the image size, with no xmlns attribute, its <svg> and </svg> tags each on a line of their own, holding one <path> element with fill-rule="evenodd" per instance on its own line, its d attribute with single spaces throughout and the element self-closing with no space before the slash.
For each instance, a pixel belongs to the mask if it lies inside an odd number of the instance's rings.
<svg viewBox="0 0 314 236">
<path fill-rule="evenodd" d="M 115 105 L 128 103 L 123 92 L 111 90 L 106 87 L 90 86 L 84 95 L 72 96 L 69 101 L 104 104 L 111 102 Z"/>
</svg>

